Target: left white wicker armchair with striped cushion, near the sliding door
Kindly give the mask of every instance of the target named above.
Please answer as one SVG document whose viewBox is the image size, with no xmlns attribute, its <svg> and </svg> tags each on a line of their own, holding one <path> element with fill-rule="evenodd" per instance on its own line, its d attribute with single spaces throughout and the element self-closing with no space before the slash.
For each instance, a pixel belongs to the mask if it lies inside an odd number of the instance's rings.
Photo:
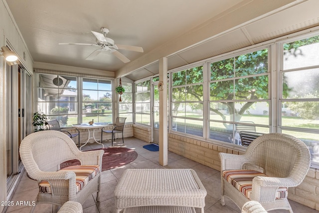
<svg viewBox="0 0 319 213">
<path fill-rule="evenodd" d="M 62 206 L 67 201 L 83 204 L 94 192 L 98 192 L 99 201 L 103 150 L 81 152 L 66 134 L 47 130 L 26 136 L 19 152 L 28 176 L 39 185 L 36 204 Z M 60 163 L 71 159 L 78 159 L 81 166 L 60 170 Z M 80 170 L 79 176 L 76 169 Z"/>
</svg>

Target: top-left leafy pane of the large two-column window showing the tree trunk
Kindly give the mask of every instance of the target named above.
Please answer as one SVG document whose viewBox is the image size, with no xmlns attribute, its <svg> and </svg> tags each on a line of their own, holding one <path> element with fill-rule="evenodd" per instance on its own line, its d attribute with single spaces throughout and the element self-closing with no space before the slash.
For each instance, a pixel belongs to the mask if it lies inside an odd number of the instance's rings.
<svg viewBox="0 0 319 213">
<path fill-rule="evenodd" d="M 210 64 L 210 80 L 216 81 L 234 77 L 234 58 Z"/>
</svg>

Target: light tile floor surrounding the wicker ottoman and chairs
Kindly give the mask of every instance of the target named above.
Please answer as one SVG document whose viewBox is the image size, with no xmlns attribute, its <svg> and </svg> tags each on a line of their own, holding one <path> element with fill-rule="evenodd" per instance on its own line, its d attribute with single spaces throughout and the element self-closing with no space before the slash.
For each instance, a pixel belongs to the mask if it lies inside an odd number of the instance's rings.
<svg viewBox="0 0 319 213">
<path fill-rule="evenodd" d="M 207 196 L 205 198 L 205 213 L 240 213 L 240 209 L 229 199 L 226 200 L 226 205 L 220 205 L 220 173 L 217 170 L 203 166 L 192 160 L 168 152 L 168 166 L 162 167 L 159 164 L 159 152 L 151 152 L 143 148 L 148 143 L 134 138 L 125 138 L 124 144 L 121 139 L 117 139 L 119 143 L 114 143 L 114 146 L 123 146 L 134 149 L 138 153 L 138 157 L 130 164 L 118 167 L 115 169 L 102 172 L 102 186 L 100 202 L 96 203 L 96 193 L 93 194 L 84 204 L 83 213 L 115 213 L 115 197 L 114 190 L 122 175 L 129 168 L 192 168 L 196 171 L 198 177 L 202 181 Z M 111 142 L 104 142 L 104 146 L 111 146 Z M 101 148 L 97 143 L 89 143 L 82 150 L 90 150 Z M 16 201 L 34 201 L 38 193 L 37 183 L 29 179 L 25 172 L 21 178 L 18 189 L 16 190 L 12 200 Z M 316 210 L 305 207 L 299 203 L 290 201 L 294 213 L 318 213 Z M 6 210 L 6 213 L 28 213 L 31 207 L 12 206 Z M 35 213 L 51 213 L 52 205 L 40 204 L 35 208 Z M 196 209 L 196 213 L 200 210 Z M 271 211 L 270 213 L 288 213 L 285 210 Z"/>
</svg>

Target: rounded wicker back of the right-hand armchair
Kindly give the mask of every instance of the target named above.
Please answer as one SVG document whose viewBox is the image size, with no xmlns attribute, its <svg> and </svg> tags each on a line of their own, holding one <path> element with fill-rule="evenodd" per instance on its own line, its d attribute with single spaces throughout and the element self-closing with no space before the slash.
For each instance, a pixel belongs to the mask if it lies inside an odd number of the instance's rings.
<svg viewBox="0 0 319 213">
<path fill-rule="evenodd" d="M 300 139 L 283 134 L 269 133 L 257 137 L 247 147 L 249 162 L 262 167 L 270 177 L 291 177 L 301 183 L 311 163 L 307 145 Z"/>
</svg>

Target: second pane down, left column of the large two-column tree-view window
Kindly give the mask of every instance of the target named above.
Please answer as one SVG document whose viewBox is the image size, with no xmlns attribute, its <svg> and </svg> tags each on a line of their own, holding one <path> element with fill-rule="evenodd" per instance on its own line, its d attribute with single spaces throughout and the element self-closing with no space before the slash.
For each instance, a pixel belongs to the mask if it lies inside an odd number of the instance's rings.
<svg viewBox="0 0 319 213">
<path fill-rule="evenodd" d="M 233 100 L 234 81 L 220 81 L 210 83 L 210 101 Z"/>
</svg>

